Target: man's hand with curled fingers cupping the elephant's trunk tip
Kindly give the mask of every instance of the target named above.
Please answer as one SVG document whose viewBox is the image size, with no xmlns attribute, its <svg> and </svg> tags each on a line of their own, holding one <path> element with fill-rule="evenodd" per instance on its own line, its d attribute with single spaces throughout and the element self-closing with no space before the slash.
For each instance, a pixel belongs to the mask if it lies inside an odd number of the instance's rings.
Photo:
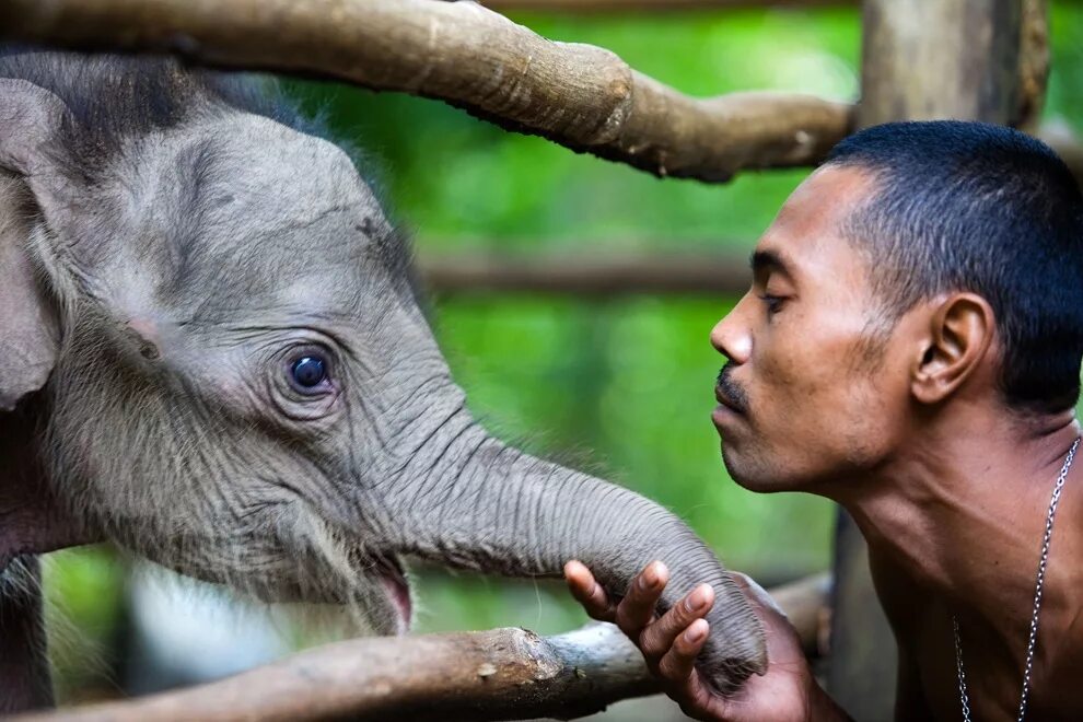
<svg viewBox="0 0 1083 722">
<path fill-rule="evenodd" d="M 711 689 L 695 667 L 710 626 L 703 617 L 714 605 L 714 591 L 701 584 L 661 618 L 654 609 L 669 579 L 653 561 L 632 580 L 628 595 L 612 602 L 591 571 L 579 561 L 564 564 L 568 586 L 594 619 L 616 624 L 647 659 L 666 694 L 697 720 L 830 720 L 847 719 L 813 678 L 797 633 L 775 601 L 744 574 L 733 574 L 752 603 L 767 634 L 767 673 L 752 676 L 733 697 Z"/>
</svg>

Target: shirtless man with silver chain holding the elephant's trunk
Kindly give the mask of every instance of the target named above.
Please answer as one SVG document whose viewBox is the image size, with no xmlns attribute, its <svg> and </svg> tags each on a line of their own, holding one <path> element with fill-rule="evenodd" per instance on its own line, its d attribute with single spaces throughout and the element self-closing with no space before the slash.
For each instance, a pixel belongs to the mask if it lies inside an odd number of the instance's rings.
<svg viewBox="0 0 1083 722">
<path fill-rule="evenodd" d="M 1068 168 L 994 126 L 870 128 L 794 191 L 753 270 L 711 333 L 729 359 L 722 457 L 745 488 L 852 514 L 898 642 L 896 715 L 1014 719 L 1025 696 L 1029 719 L 1080 719 L 1083 198 Z M 725 699 L 692 667 L 709 586 L 655 620 L 662 563 L 619 604 L 582 564 L 566 574 L 692 717 L 845 717 L 754 586 L 769 667 Z"/>
</svg>

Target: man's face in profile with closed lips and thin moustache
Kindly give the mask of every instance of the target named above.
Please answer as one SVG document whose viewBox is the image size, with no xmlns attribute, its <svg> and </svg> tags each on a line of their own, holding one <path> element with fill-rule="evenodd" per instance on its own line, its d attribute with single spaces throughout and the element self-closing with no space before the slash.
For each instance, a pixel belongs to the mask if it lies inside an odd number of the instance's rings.
<svg viewBox="0 0 1083 722">
<path fill-rule="evenodd" d="M 712 418 L 726 468 L 748 489 L 835 496 L 899 436 L 905 341 L 840 226 L 874 191 L 858 168 L 814 173 L 757 244 L 752 289 L 711 331 L 729 359 Z"/>
</svg>

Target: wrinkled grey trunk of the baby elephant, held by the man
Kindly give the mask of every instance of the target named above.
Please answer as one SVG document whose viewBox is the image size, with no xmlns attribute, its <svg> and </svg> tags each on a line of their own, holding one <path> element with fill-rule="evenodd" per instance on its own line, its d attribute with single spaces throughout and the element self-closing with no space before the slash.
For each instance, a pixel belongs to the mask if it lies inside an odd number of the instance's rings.
<svg viewBox="0 0 1083 722">
<path fill-rule="evenodd" d="M 428 433 L 386 499 L 395 551 L 509 577 L 560 577 L 579 559 L 613 596 L 648 562 L 669 569 L 660 612 L 697 584 L 714 589 L 697 662 L 730 692 L 767 666 L 762 629 L 714 554 L 677 516 L 613 484 L 493 439 L 458 407 Z"/>
</svg>

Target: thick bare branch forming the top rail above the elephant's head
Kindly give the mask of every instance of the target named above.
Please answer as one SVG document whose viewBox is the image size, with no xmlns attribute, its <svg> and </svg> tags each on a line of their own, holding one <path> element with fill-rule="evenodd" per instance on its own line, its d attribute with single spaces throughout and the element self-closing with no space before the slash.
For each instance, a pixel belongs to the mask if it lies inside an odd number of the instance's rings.
<svg viewBox="0 0 1083 722">
<path fill-rule="evenodd" d="M 815 164 L 852 125 L 850 106 L 805 95 L 691 98 L 608 50 L 547 40 L 474 2 L 4 0 L 0 36 L 405 91 L 659 176 L 722 182 Z"/>
</svg>

